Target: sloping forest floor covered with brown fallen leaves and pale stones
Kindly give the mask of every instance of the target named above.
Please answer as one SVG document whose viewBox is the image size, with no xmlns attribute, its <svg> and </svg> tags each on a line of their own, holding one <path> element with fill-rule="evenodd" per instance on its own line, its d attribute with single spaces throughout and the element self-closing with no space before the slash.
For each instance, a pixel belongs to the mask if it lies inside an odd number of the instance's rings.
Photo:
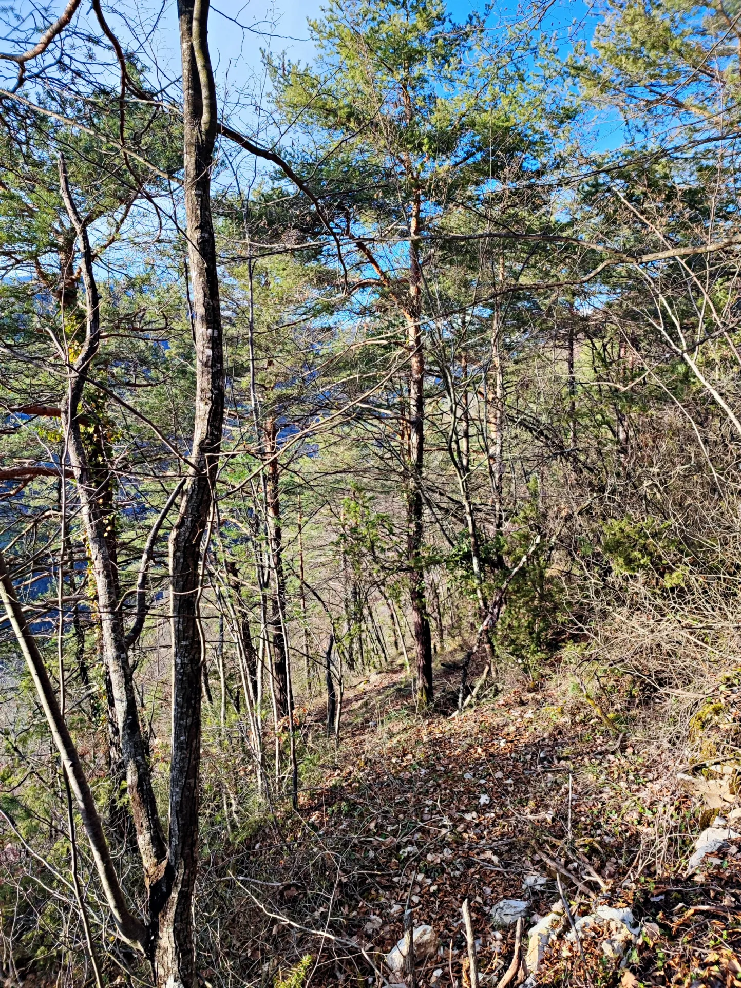
<svg viewBox="0 0 741 988">
<path fill-rule="evenodd" d="M 268 825 L 255 834 L 249 895 L 267 917 L 253 954 L 270 958 L 264 983 L 300 983 L 287 972 L 310 955 L 301 973 L 314 988 L 401 984 L 381 961 L 408 906 L 440 944 L 419 958 L 416 984 L 466 988 L 467 898 L 479 983 L 496 985 L 515 927 L 496 930 L 492 907 L 529 902 L 525 949 L 527 931 L 562 902 L 558 873 L 574 920 L 627 906 L 641 930 L 610 956 L 599 926 L 569 941 L 564 919 L 535 983 L 739 988 L 741 841 L 685 876 L 717 811 L 682 790 L 671 746 L 617 733 L 581 697 L 564 700 L 563 683 L 511 684 L 452 715 L 458 675 L 443 671 L 425 716 L 414 714 L 403 667 L 349 690 L 342 744 L 311 767 L 299 813 L 284 817 L 280 841 Z M 322 715 L 307 717 L 315 735 Z M 278 890 L 270 899 L 260 875 Z"/>
</svg>

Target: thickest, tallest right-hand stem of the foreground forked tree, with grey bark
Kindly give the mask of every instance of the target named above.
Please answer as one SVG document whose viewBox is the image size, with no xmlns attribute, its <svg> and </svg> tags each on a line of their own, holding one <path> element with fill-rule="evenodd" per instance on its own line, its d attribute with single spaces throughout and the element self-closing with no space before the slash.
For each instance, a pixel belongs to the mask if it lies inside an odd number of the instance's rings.
<svg viewBox="0 0 741 988">
<path fill-rule="evenodd" d="M 178 0 L 183 64 L 183 132 L 188 260 L 196 348 L 196 415 L 191 460 L 170 535 L 172 754 L 169 860 L 154 951 L 155 980 L 194 988 L 193 895 L 201 781 L 203 654 L 199 628 L 202 542 L 213 502 L 224 411 L 224 366 L 210 173 L 216 100 L 206 40 L 208 6 Z"/>
</svg>

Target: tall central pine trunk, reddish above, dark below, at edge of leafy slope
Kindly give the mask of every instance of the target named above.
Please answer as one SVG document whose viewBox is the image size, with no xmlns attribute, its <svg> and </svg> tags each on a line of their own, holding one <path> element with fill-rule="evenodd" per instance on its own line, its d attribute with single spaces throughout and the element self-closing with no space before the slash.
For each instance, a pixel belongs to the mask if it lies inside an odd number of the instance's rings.
<svg viewBox="0 0 741 988">
<path fill-rule="evenodd" d="M 425 354 L 422 346 L 422 269 L 419 260 L 419 235 L 422 204 L 419 190 L 412 206 L 409 244 L 409 311 L 407 346 L 409 349 L 409 476 L 407 485 L 407 559 L 409 563 L 409 598 L 412 605 L 414 647 L 417 672 L 417 700 L 426 706 L 433 699 L 432 635 L 425 597 L 425 573 L 422 559 L 423 504 L 422 471 L 425 456 Z"/>
</svg>

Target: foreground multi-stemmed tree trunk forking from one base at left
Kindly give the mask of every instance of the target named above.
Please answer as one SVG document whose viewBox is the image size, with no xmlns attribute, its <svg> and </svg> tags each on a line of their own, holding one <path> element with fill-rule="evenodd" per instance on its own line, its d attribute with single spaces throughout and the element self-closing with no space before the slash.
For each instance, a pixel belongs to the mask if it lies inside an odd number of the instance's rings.
<svg viewBox="0 0 741 988">
<path fill-rule="evenodd" d="M 69 10 L 76 9 L 71 0 Z M 70 15 L 71 16 L 71 15 Z M 5 570 L 0 552 L 0 597 L 26 657 L 51 734 L 69 779 L 93 858 L 120 935 L 152 961 L 159 988 L 195 988 L 193 899 L 197 869 L 201 770 L 201 691 L 203 654 L 198 604 L 203 541 L 213 503 L 224 406 L 224 368 L 216 250 L 210 213 L 210 169 L 216 133 L 216 102 L 206 41 L 207 0 L 178 0 L 183 61 L 183 132 L 188 253 L 193 277 L 193 326 L 196 347 L 196 414 L 192 467 L 183 489 L 178 520 L 170 536 L 170 585 L 173 650 L 173 710 L 170 764 L 170 828 L 165 845 L 138 722 L 127 648 L 140 633 L 145 609 L 146 566 L 137 586 L 137 617 L 127 636 L 120 607 L 116 559 L 111 550 L 110 511 L 101 504 L 94 470 L 83 446 L 79 404 L 100 347 L 100 303 L 87 230 L 72 201 L 60 159 L 64 204 L 82 248 L 86 294 L 85 337 L 70 365 L 62 425 L 77 480 L 92 568 L 98 589 L 104 656 L 111 679 L 126 764 L 136 837 L 147 891 L 149 922 L 129 912 L 113 865 L 100 817 L 64 717 L 43 666 L 41 653 Z M 68 21 L 68 18 L 67 18 Z M 62 18 L 60 31 L 67 23 Z M 58 33 L 58 31 L 56 33 Z M 48 34 L 48 33 L 47 33 Z M 103 499 L 105 502 L 105 498 Z M 163 515 L 147 540 L 156 536 Z"/>
</svg>

